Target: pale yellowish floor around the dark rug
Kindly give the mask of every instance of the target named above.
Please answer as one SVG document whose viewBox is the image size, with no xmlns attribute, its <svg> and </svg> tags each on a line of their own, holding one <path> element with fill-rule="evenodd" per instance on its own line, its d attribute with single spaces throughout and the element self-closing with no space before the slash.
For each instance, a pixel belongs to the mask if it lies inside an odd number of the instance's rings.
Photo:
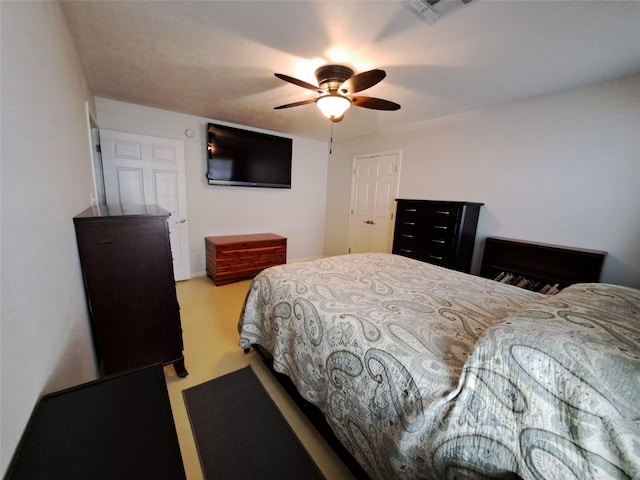
<svg viewBox="0 0 640 480">
<path fill-rule="evenodd" d="M 216 287 L 208 277 L 177 283 L 189 375 L 177 377 L 171 366 L 164 370 L 187 479 L 203 476 L 182 391 L 249 364 L 327 479 L 353 478 L 260 358 L 254 352 L 244 354 L 238 346 L 238 318 L 249 284 L 246 280 Z"/>
</svg>

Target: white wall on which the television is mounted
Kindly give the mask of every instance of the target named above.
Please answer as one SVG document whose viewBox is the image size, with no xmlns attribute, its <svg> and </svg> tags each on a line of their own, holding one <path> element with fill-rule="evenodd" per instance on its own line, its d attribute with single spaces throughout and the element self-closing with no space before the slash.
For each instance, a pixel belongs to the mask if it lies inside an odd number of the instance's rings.
<svg viewBox="0 0 640 480">
<path fill-rule="evenodd" d="M 290 190 L 212 186 L 205 178 L 206 128 L 215 119 L 105 98 L 96 98 L 96 110 L 99 128 L 184 141 L 191 276 L 205 275 L 204 237 L 212 235 L 271 232 L 287 237 L 289 262 L 322 256 L 327 143 L 293 138 Z M 187 129 L 195 132 L 193 138 L 185 135 Z"/>
</svg>

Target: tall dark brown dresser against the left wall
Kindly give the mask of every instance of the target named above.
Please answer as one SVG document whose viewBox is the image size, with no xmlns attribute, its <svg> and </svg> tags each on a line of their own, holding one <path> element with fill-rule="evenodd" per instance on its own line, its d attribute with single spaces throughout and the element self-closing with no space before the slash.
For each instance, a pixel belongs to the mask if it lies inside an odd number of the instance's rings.
<svg viewBox="0 0 640 480">
<path fill-rule="evenodd" d="M 172 363 L 186 376 L 169 212 L 90 207 L 74 217 L 100 373 Z"/>
</svg>

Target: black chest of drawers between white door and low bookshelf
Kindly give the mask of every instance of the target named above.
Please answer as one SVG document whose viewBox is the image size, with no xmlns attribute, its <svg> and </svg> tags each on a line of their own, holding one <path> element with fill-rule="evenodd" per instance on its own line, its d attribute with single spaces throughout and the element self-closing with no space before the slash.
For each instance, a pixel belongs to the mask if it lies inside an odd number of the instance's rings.
<svg viewBox="0 0 640 480">
<path fill-rule="evenodd" d="M 397 202 L 394 254 L 469 273 L 483 203 Z"/>
</svg>

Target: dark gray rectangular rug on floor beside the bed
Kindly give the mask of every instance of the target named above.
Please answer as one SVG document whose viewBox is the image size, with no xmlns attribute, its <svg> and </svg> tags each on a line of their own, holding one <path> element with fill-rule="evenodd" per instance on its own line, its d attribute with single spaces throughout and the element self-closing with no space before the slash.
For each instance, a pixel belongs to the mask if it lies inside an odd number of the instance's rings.
<svg viewBox="0 0 640 480">
<path fill-rule="evenodd" d="M 182 394 L 206 479 L 324 478 L 250 366 Z"/>
</svg>

